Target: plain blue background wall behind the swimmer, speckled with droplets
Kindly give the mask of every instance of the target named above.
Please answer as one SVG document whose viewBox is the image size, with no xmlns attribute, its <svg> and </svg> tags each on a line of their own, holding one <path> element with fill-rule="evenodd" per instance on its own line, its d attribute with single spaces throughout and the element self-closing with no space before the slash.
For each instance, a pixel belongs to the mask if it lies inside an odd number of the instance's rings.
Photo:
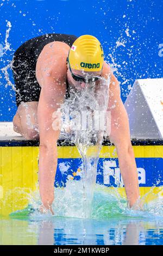
<svg viewBox="0 0 163 256">
<path fill-rule="evenodd" d="M 41 34 L 97 36 L 121 82 L 123 102 L 135 79 L 163 77 L 162 7 L 151 0 L 1 0 L 0 121 L 11 121 L 16 112 L 12 72 L 8 66 L 5 75 L 3 68 L 18 46 Z"/>
</svg>

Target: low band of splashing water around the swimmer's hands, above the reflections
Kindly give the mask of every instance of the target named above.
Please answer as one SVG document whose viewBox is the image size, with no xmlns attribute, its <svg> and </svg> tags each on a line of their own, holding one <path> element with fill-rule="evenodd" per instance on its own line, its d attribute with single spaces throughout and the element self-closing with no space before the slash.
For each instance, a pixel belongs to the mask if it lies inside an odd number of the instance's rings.
<svg viewBox="0 0 163 256">
<path fill-rule="evenodd" d="M 163 190 L 162 190 L 163 191 Z M 11 194 L 10 191 L 6 198 L 3 199 L 8 203 Z M 23 210 L 13 211 L 11 207 L 10 217 L 18 219 L 30 220 L 48 220 L 52 218 L 51 212 L 41 214 L 39 211 L 41 200 L 39 190 L 36 192 L 27 192 L 23 189 L 17 190 L 21 193 L 22 199 L 28 197 L 29 205 L 24 206 Z M 84 197 L 83 197 L 83 181 L 69 180 L 65 188 L 55 188 L 55 199 L 52 205 L 54 217 L 72 217 L 85 219 Z M 152 196 L 153 191 L 148 192 L 148 197 Z M 140 199 L 141 203 L 143 197 Z M 15 199 L 15 208 L 17 208 Z M 0 204 L 1 205 L 1 204 Z M 7 205 L 9 207 L 9 205 Z M 143 204 L 141 210 L 129 209 L 127 200 L 118 192 L 118 188 L 106 188 L 104 185 L 95 185 L 95 191 L 92 199 L 92 208 L 89 219 L 110 220 L 112 218 L 146 218 L 148 220 L 162 220 L 163 217 L 163 197 L 155 194 L 155 198 L 148 203 Z"/>
</svg>

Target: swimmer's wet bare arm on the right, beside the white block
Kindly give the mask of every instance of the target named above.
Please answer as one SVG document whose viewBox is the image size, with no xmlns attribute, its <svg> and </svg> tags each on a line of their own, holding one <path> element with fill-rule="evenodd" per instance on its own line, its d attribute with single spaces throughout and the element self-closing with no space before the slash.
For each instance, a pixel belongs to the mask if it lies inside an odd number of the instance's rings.
<svg viewBox="0 0 163 256">
<path fill-rule="evenodd" d="M 111 111 L 110 141 L 115 144 L 122 179 L 129 206 L 139 198 L 139 182 L 133 147 L 130 141 L 129 121 L 121 100 L 120 86 L 111 74 L 108 111 Z"/>
</svg>

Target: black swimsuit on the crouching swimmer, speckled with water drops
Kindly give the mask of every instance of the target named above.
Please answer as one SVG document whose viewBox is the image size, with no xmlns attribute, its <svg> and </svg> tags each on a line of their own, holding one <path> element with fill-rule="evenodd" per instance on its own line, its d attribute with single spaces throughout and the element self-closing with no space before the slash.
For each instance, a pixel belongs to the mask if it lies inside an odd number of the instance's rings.
<svg viewBox="0 0 163 256">
<path fill-rule="evenodd" d="M 70 47 L 77 39 L 75 35 L 45 34 L 24 42 L 14 53 L 12 72 L 16 87 L 16 105 L 21 102 L 39 101 L 41 87 L 36 79 L 36 62 L 49 42 L 65 42 Z M 68 81 L 66 80 L 66 97 L 68 97 Z"/>
</svg>

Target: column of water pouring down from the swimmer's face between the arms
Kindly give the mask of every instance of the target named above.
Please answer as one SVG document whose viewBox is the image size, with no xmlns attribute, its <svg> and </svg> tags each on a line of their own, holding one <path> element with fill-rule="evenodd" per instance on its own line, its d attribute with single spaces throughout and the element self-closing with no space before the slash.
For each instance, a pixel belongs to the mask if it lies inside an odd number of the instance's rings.
<svg viewBox="0 0 163 256">
<path fill-rule="evenodd" d="M 102 115 L 108 106 L 109 84 L 110 77 L 108 80 L 100 78 L 98 87 L 96 83 L 93 84 L 92 82 L 86 83 L 86 87 L 79 92 L 71 90 L 70 99 L 65 102 L 64 109 L 62 109 L 63 113 L 67 113 L 68 109 L 69 116 L 63 120 L 69 122 L 71 119 L 71 129 L 74 131 L 73 142 L 83 160 L 82 181 L 85 218 L 91 216 L 97 163 L 105 131 L 105 117 L 102 118 Z M 67 125 L 66 122 L 64 121 L 64 127 Z"/>
</svg>

